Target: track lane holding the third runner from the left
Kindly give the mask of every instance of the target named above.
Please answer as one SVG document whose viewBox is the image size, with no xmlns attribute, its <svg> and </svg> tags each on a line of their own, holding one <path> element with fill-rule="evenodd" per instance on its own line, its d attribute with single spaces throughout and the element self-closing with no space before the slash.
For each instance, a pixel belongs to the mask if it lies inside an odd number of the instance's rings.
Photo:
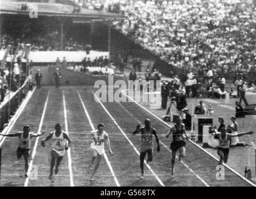
<svg viewBox="0 0 256 199">
<path fill-rule="evenodd" d="M 72 169 L 73 180 L 75 186 L 113 186 L 115 187 L 115 181 L 111 176 L 111 172 L 108 169 L 108 165 L 105 159 L 102 159 L 100 168 L 95 175 L 95 182 L 90 182 L 90 161 L 91 153 L 90 144 L 92 137 L 90 131 L 92 127 L 83 111 L 80 98 L 78 98 L 76 90 L 65 90 L 65 99 L 67 107 L 67 118 L 69 126 L 69 136 L 72 139 L 71 157 L 72 157 Z M 84 134 L 84 132 L 87 134 Z M 73 133 L 77 132 L 77 133 Z M 106 177 L 109 176 L 109 177 Z"/>
</svg>

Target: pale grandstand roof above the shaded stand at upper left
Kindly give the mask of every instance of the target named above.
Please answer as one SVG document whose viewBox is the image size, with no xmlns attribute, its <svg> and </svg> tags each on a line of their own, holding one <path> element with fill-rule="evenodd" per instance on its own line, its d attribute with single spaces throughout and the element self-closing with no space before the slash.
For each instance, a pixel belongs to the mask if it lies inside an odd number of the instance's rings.
<svg viewBox="0 0 256 199">
<path fill-rule="evenodd" d="M 21 11 L 22 4 L 27 4 L 27 11 Z M 41 2 L 4 2 L 1 1 L 0 14 L 2 15 L 29 15 L 32 9 L 38 10 L 38 16 L 47 17 L 72 17 L 74 19 L 83 20 L 120 20 L 123 16 L 110 12 L 95 11 L 81 7 L 79 13 L 73 13 L 74 6 L 57 4 L 57 3 L 41 3 Z"/>
</svg>

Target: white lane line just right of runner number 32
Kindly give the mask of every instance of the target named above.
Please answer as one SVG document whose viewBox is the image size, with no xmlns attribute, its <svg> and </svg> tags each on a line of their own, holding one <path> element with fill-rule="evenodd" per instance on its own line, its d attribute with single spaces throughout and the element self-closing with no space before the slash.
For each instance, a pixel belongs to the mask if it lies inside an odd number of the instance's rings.
<svg viewBox="0 0 256 199">
<path fill-rule="evenodd" d="M 93 92 L 92 92 L 93 93 Z M 110 116 L 110 118 L 112 119 L 112 121 L 115 123 L 115 125 L 118 127 L 118 129 L 121 131 L 121 133 L 123 134 L 123 136 L 125 136 L 125 138 L 127 139 L 127 141 L 131 144 L 131 146 L 133 147 L 133 149 L 135 150 L 136 154 L 138 154 L 140 156 L 140 152 L 138 151 L 138 149 L 136 149 L 136 147 L 133 145 L 133 142 L 130 141 L 130 139 L 126 136 L 125 132 L 123 132 L 123 129 L 121 129 L 121 127 L 118 125 L 118 123 L 116 123 L 115 119 L 113 118 L 113 116 L 111 116 L 111 114 L 108 112 L 107 108 L 105 108 L 105 106 L 102 104 L 102 102 L 100 101 L 100 99 L 98 99 L 98 97 L 93 93 L 94 98 L 97 99 L 98 103 L 100 103 L 100 105 L 102 106 L 102 108 L 105 110 L 105 112 L 108 114 L 108 116 Z M 146 164 L 146 160 L 144 161 Z M 163 187 L 164 183 L 160 180 L 160 178 L 158 177 L 158 175 L 156 175 L 153 171 L 153 169 L 151 169 L 151 167 L 146 164 L 146 166 L 148 167 L 148 169 L 151 171 L 151 173 L 154 175 L 154 177 L 156 177 L 156 180 L 158 180 L 159 184 Z"/>
</svg>

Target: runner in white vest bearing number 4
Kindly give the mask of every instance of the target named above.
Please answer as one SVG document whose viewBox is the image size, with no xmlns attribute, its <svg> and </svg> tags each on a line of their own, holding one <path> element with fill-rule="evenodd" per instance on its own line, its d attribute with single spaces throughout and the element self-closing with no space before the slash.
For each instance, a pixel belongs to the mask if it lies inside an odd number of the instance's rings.
<svg viewBox="0 0 256 199">
<path fill-rule="evenodd" d="M 56 175 L 59 172 L 59 165 L 65 155 L 65 150 L 68 150 L 70 147 L 71 140 L 67 135 L 67 133 L 62 131 L 61 124 L 55 124 L 55 131 L 50 132 L 49 136 L 45 137 L 45 139 L 42 140 L 41 142 L 42 147 L 45 147 L 45 141 L 48 141 L 49 139 L 52 139 L 52 150 L 50 151 L 50 154 L 52 155 L 52 160 L 50 161 L 49 179 L 52 180 L 53 182 L 55 162 L 56 162 L 56 165 L 55 165 L 55 175 Z"/>
</svg>

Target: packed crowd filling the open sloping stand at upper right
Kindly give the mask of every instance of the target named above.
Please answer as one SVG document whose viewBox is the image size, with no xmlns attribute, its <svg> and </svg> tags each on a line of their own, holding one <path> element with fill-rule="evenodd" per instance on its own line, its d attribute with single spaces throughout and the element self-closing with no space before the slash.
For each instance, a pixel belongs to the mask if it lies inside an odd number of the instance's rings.
<svg viewBox="0 0 256 199">
<path fill-rule="evenodd" d="M 254 5 L 225 0 L 120 1 L 116 29 L 174 67 L 249 72 L 256 62 Z"/>
</svg>

